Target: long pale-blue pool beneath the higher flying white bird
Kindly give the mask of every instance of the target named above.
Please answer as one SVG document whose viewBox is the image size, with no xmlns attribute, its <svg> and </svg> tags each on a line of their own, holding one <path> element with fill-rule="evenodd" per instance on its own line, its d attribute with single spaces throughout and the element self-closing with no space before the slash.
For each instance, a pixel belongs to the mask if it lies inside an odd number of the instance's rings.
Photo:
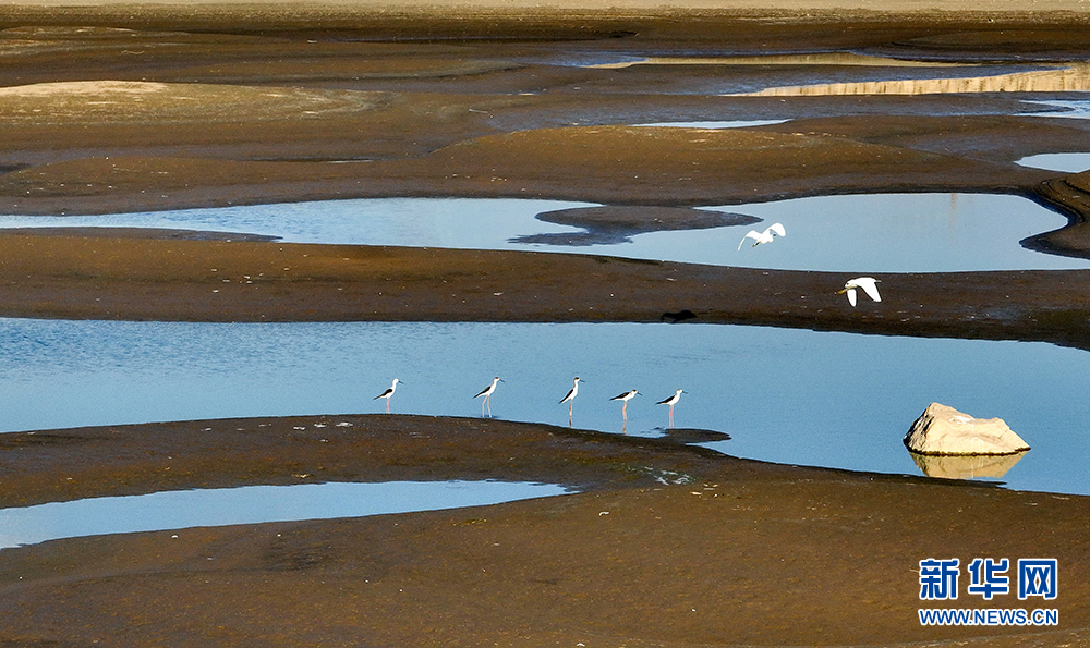
<svg viewBox="0 0 1090 648">
<path fill-rule="evenodd" d="M 638 234 L 627 243 L 569 246 L 520 236 L 582 230 L 537 213 L 589 203 L 518 199 L 383 198 L 88 217 L 0 217 L 0 228 L 143 227 L 245 232 L 296 243 L 343 243 L 578 252 L 720 266 L 835 272 L 956 272 L 1088 268 L 1090 261 L 1018 244 L 1067 219 L 1017 196 L 881 194 L 822 196 L 708 207 L 782 222 L 787 236 L 753 248 L 750 227 Z"/>
</svg>

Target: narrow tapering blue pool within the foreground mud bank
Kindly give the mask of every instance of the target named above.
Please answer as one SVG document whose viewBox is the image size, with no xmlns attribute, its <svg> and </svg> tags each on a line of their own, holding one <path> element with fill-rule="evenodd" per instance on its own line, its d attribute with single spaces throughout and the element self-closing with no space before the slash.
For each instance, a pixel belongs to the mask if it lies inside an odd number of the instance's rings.
<svg viewBox="0 0 1090 648">
<path fill-rule="evenodd" d="M 550 484 L 387 481 L 164 491 L 0 509 L 0 549 L 59 538 L 481 506 L 570 492 Z"/>
</svg>

